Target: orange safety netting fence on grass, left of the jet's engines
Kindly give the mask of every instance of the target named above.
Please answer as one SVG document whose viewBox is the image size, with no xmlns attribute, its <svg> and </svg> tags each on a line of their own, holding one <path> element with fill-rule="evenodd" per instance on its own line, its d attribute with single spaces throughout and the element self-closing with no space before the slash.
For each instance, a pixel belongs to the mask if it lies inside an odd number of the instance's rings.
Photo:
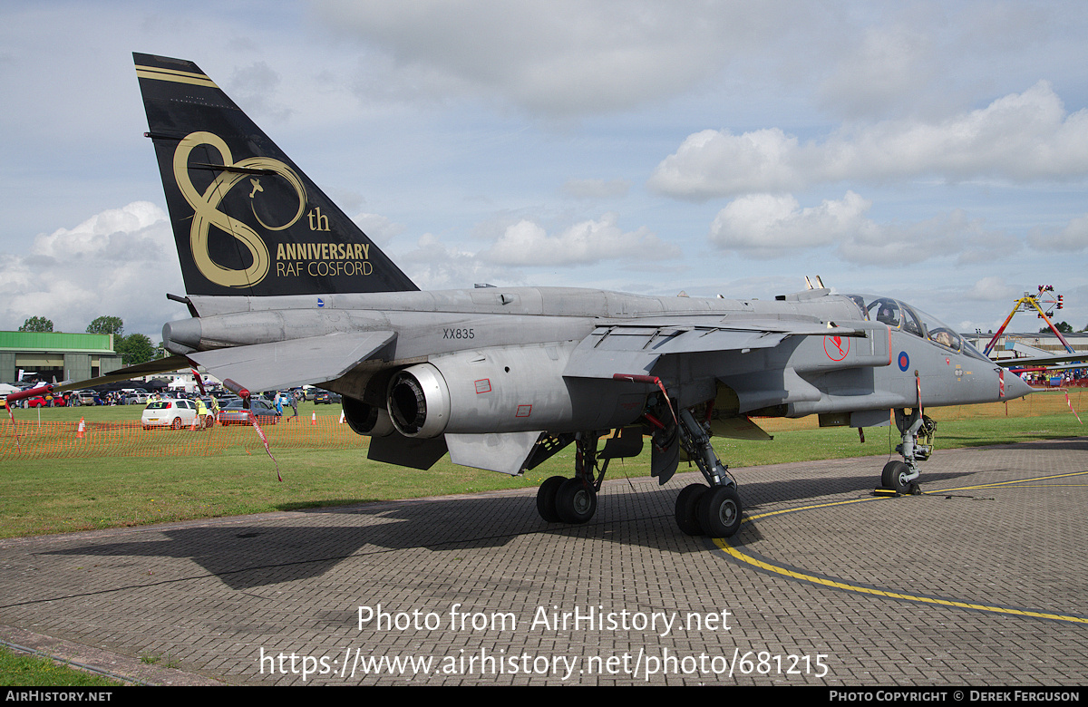
<svg viewBox="0 0 1088 707">
<path fill-rule="evenodd" d="M 0 420 L 0 460 L 72 457 L 208 456 L 236 447 L 263 450 L 249 424 L 214 425 L 209 430 L 145 430 L 139 422 L 37 422 Z M 272 449 L 366 448 L 368 437 L 351 432 L 335 417 L 284 418 L 277 424 L 261 422 Z M 263 451 L 262 451 L 263 454 Z"/>
</svg>

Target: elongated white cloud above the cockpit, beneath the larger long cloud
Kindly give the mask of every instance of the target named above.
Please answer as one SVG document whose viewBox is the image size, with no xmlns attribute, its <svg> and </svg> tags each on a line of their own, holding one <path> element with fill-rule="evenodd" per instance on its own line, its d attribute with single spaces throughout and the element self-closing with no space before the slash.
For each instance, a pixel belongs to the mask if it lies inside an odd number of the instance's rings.
<svg viewBox="0 0 1088 707">
<path fill-rule="evenodd" d="M 818 207 L 801 208 L 790 196 L 738 197 L 710 224 L 710 241 L 751 258 L 770 259 L 831 248 L 848 262 L 897 265 L 931 258 L 957 263 L 994 260 L 1018 248 L 1015 238 L 990 231 L 962 210 L 915 223 L 878 224 L 873 202 L 853 191 Z"/>
</svg>

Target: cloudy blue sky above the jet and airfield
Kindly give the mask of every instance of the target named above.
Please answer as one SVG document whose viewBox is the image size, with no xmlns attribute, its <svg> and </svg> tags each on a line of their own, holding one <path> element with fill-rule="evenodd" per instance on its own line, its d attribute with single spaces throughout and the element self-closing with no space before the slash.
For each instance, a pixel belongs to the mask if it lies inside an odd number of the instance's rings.
<svg viewBox="0 0 1088 707">
<path fill-rule="evenodd" d="M 1088 5 L 0 4 L 0 328 L 185 317 L 132 52 L 195 61 L 421 287 L 1088 324 Z M 1014 328 L 1037 328 L 1022 315 Z"/>
</svg>

